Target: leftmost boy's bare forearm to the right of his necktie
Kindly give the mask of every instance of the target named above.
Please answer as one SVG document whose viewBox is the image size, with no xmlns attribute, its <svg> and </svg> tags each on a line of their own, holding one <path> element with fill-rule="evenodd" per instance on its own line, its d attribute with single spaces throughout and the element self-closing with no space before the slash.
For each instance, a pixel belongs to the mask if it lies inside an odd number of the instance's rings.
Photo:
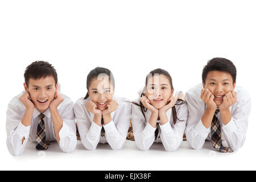
<svg viewBox="0 0 256 182">
<path fill-rule="evenodd" d="M 49 110 L 52 116 L 52 123 L 53 123 L 53 129 L 55 132 L 55 137 L 57 142 L 60 142 L 60 136 L 59 136 L 59 132 L 63 126 L 63 120 L 60 117 L 59 112 L 57 111 L 57 109 L 51 109 Z"/>
</svg>

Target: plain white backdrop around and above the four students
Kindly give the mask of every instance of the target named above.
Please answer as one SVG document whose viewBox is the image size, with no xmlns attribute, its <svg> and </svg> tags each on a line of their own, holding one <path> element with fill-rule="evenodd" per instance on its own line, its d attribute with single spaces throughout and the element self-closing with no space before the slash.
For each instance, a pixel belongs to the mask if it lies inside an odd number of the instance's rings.
<svg viewBox="0 0 256 182">
<path fill-rule="evenodd" d="M 6 147 L 5 130 L 7 104 L 23 90 L 23 73 L 32 61 L 46 60 L 53 64 L 61 92 L 76 101 L 85 96 L 86 76 L 97 66 L 113 72 L 115 94 L 134 99 L 147 73 L 155 68 L 166 69 L 172 76 L 174 88 L 185 93 L 201 82 L 201 71 L 213 57 L 233 61 L 237 67 L 237 85 L 246 88 L 252 100 L 246 142 L 240 151 L 227 157 L 227 162 L 233 163 L 223 169 L 256 169 L 255 7 L 255 1 L 234 0 L 1 1 L 0 169 L 31 169 L 36 160 L 27 157 L 29 162 L 26 162 L 23 156 L 11 156 Z M 148 166 L 150 151 L 146 153 L 147 160 L 120 163 L 124 158 L 119 151 L 119 158 L 108 158 L 108 168 L 97 167 L 97 164 L 86 167 L 79 158 L 84 154 L 79 154 L 77 160 L 69 154 L 60 154 L 63 158 L 50 158 L 41 168 L 48 169 L 55 164 L 56 169 L 220 169 L 217 164 L 210 164 L 207 157 L 196 155 L 195 158 L 183 152 L 172 159 L 171 166 L 162 158 L 163 163 L 158 162 L 157 167 Z M 165 156 L 174 154 L 164 152 Z M 104 152 L 96 151 L 92 156 L 90 162 L 93 163 L 104 158 Z M 71 165 L 65 167 L 63 159 Z M 220 160 L 225 162 L 226 158 L 221 156 Z M 133 162 L 139 165 L 134 167 Z"/>
</svg>

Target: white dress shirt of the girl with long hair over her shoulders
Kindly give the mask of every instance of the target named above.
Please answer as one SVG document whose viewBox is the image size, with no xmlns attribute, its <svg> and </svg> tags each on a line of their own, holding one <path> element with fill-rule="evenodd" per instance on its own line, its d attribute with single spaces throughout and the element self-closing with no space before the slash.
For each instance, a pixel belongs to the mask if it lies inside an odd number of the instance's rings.
<svg viewBox="0 0 256 182">
<path fill-rule="evenodd" d="M 176 96 L 181 92 L 176 92 Z M 134 102 L 139 104 L 139 98 Z M 159 123 L 160 130 L 158 133 L 158 138 L 155 140 L 155 127 L 152 127 L 150 123 L 148 123 L 151 111 L 147 109 L 144 112 L 146 120 L 142 114 L 142 110 L 140 106 L 135 104 L 131 107 L 131 122 L 133 124 L 133 134 L 135 142 L 139 149 L 141 150 L 148 150 L 152 146 L 154 142 L 159 143 L 162 142 L 166 151 L 175 151 L 179 148 L 182 140 L 183 134 L 187 122 L 188 117 L 188 109 L 187 105 L 177 105 L 175 106 L 177 119 L 174 125 L 174 118 L 172 117 L 172 108 L 166 112 L 168 121 L 164 125 L 160 125 L 160 120 L 157 122 Z M 160 137 L 159 137 L 160 136 Z"/>
</svg>

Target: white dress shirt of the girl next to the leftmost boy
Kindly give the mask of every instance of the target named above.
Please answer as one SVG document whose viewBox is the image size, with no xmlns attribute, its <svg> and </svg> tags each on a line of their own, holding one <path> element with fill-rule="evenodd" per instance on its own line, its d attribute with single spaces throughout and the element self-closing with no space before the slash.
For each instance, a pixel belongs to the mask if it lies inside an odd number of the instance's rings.
<svg viewBox="0 0 256 182">
<path fill-rule="evenodd" d="M 126 98 L 113 96 L 117 101 L 117 110 L 110 113 L 112 121 L 103 126 L 94 123 L 94 114 L 86 110 L 86 102 L 90 97 L 80 98 L 76 101 L 74 112 L 76 115 L 77 129 L 81 142 L 87 150 L 95 150 L 98 143 L 109 143 L 113 150 L 120 150 L 125 144 L 131 118 L 131 104 Z M 105 137 L 101 136 L 101 129 L 105 129 Z"/>
</svg>

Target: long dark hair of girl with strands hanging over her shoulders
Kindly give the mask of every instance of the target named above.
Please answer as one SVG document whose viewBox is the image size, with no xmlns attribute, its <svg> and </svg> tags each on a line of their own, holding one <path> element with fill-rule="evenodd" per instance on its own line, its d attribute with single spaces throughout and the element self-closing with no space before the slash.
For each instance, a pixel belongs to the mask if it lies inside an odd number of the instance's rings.
<svg viewBox="0 0 256 182">
<path fill-rule="evenodd" d="M 152 76 L 154 76 L 154 74 L 159 74 L 159 75 L 164 75 L 164 76 L 166 76 L 166 77 L 168 78 L 168 80 L 170 81 L 171 89 L 172 89 L 172 90 L 174 89 L 174 86 L 172 85 L 172 77 L 171 77 L 171 75 L 170 75 L 167 71 L 165 71 L 164 69 L 158 68 L 158 69 L 154 69 L 153 71 L 151 71 L 151 72 L 147 75 L 146 81 L 145 81 L 145 86 L 144 86 L 144 88 L 143 88 L 143 92 L 141 93 L 141 96 L 140 96 L 140 97 L 144 96 L 144 93 L 146 92 L 147 79 L 148 79 L 148 77 L 152 77 Z M 137 102 L 131 102 L 131 103 L 141 107 L 142 114 L 143 114 L 144 118 L 146 119 L 144 112 L 147 111 L 147 108 L 144 107 L 144 105 L 142 104 L 142 102 L 139 101 L 139 104 L 138 104 Z M 175 105 L 182 105 L 182 104 L 184 104 L 184 103 L 185 103 L 185 101 L 183 101 L 183 100 L 181 100 L 181 99 L 178 99 L 178 100 L 176 101 Z M 174 124 L 176 123 L 177 119 L 178 119 L 179 121 L 181 121 L 179 118 L 177 118 L 177 112 L 176 112 L 176 108 L 175 108 L 175 107 L 172 107 L 172 117 L 174 118 Z"/>
</svg>

